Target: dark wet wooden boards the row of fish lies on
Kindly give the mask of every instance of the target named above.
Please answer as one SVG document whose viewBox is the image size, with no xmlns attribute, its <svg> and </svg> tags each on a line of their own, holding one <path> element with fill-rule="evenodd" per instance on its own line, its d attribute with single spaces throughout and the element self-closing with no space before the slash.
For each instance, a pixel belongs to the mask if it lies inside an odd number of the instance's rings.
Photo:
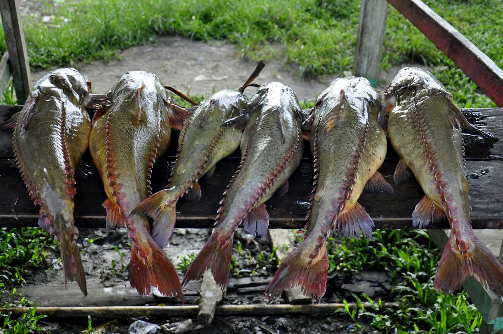
<svg viewBox="0 0 503 334">
<path fill-rule="evenodd" d="M 10 117 L 12 111 L 0 109 L 0 121 Z M 19 108 L 18 108 L 19 109 Z M 496 139 L 503 137 L 503 109 L 465 110 L 467 118 L 482 129 L 491 132 Z M 485 125 L 486 124 L 486 125 Z M 465 135 L 467 176 L 470 184 L 472 223 L 474 228 L 503 228 L 503 142 L 484 142 L 473 135 Z M 164 157 L 160 158 L 153 170 L 153 190 L 166 185 L 174 165 L 177 136 Z M 267 207 L 271 218 L 271 228 L 302 228 L 312 189 L 313 166 L 307 149 L 298 170 L 290 178 L 288 193 L 274 195 Z M 11 133 L 0 131 L 0 227 L 36 226 L 38 208 L 30 200 L 19 176 L 12 155 Z M 92 165 L 89 154 L 85 156 Z M 215 174 L 200 180 L 202 199 L 199 202 L 180 201 L 177 205 L 177 227 L 211 228 L 219 207 L 221 194 L 239 163 L 238 152 L 217 164 Z M 381 168 L 385 179 L 393 185 L 393 195 L 363 194 L 360 203 L 376 223 L 376 228 L 412 228 L 412 211 L 423 197 L 418 184 L 413 181 L 399 187 L 393 183 L 393 171 L 398 158 L 391 146 Z M 105 210 L 101 206 L 105 192 L 96 169 L 91 167 L 89 177 L 77 175 L 75 195 L 75 224 L 78 227 L 105 227 Z M 436 223 L 430 228 L 448 228 L 448 223 Z"/>
</svg>

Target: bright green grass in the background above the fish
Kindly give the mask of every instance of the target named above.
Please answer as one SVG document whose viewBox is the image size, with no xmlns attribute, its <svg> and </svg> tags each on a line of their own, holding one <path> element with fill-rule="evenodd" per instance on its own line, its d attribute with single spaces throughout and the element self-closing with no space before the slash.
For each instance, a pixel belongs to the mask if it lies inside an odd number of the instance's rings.
<svg viewBox="0 0 503 334">
<path fill-rule="evenodd" d="M 499 0 L 426 3 L 503 67 Z M 118 49 L 155 43 L 156 35 L 179 34 L 228 40 L 245 58 L 284 59 L 299 75 L 313 76 L 351 70 L 359 4 L 359 0 L 65 2 L 43 9 L 43 14 L 55 17 L 49 23 L 42 22 L 42 15 L 25 17 L 24 29 L 33 68 L 110 59 Z M 1 51 L 6 47 L 0 37 Z M 444 66 L 434 72 L 461 107 L 493 106 L 452 61 L 390 7 L 381 67 L 410 61 Z"/>
</svg>

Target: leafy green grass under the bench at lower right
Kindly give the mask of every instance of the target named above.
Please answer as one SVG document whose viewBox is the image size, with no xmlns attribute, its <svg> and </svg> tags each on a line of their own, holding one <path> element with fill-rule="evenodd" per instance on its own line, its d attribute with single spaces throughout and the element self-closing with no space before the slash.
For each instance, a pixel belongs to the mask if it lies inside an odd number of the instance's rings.
<svg viewBox="0 0 503 334">
<path fill-rule="evenodd" d="M 330 238 L 327 251 L 330 271 L 391 273 L 391 295 L 398 307 L 386 308 L 381 300 L 353 294 L 359 307 L 347 307 L 343 313 L 356 324 L 363 318 L 385 332 L 478 332 L 482 317 L 466 292 L 443 294 L 433 289 L 440 250 L 425 230 L 376 230 L 370 238 L 345 238 L 342 243 Z"/>
</svg>

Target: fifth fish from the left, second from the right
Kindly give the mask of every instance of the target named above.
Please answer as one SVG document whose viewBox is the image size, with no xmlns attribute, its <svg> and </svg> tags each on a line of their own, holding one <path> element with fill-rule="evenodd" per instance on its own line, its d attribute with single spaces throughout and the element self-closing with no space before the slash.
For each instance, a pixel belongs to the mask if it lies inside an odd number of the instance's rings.
<svg viewBox="0 0 503 334">
<path fill-rule="evenodd" d="M 280 264 L 266 289 L 274 298 L 300 286 L 318 302 L 326 291 L 326 238 L 333 230 L 344 236 L 370 236 L 374 222 L 358 203 L 365 190 L 392 194 L 377 172 L 386 157 L 386 134 L 377 123 L 378 94 L 362 77 L 331 82 L 307 119 L 312 122 L 310 147 L 314 189 L 304 240 Z M 361 232 L 360 232 L 361 230 Z"/>
</svg>

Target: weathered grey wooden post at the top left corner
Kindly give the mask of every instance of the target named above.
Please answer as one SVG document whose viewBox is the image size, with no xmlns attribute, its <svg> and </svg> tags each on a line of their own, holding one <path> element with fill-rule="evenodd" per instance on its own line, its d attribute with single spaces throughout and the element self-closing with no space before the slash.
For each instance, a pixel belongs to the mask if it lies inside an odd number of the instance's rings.
<svg viewBox="0 0 503 334">
<path fill-rule="evenodd" d="M 2 13 L 16 97 L 20 103 L 23 103 L 30 93 L 31 77 L 18 0 L 0 0 L 0 13 Z"/>
</svg>

